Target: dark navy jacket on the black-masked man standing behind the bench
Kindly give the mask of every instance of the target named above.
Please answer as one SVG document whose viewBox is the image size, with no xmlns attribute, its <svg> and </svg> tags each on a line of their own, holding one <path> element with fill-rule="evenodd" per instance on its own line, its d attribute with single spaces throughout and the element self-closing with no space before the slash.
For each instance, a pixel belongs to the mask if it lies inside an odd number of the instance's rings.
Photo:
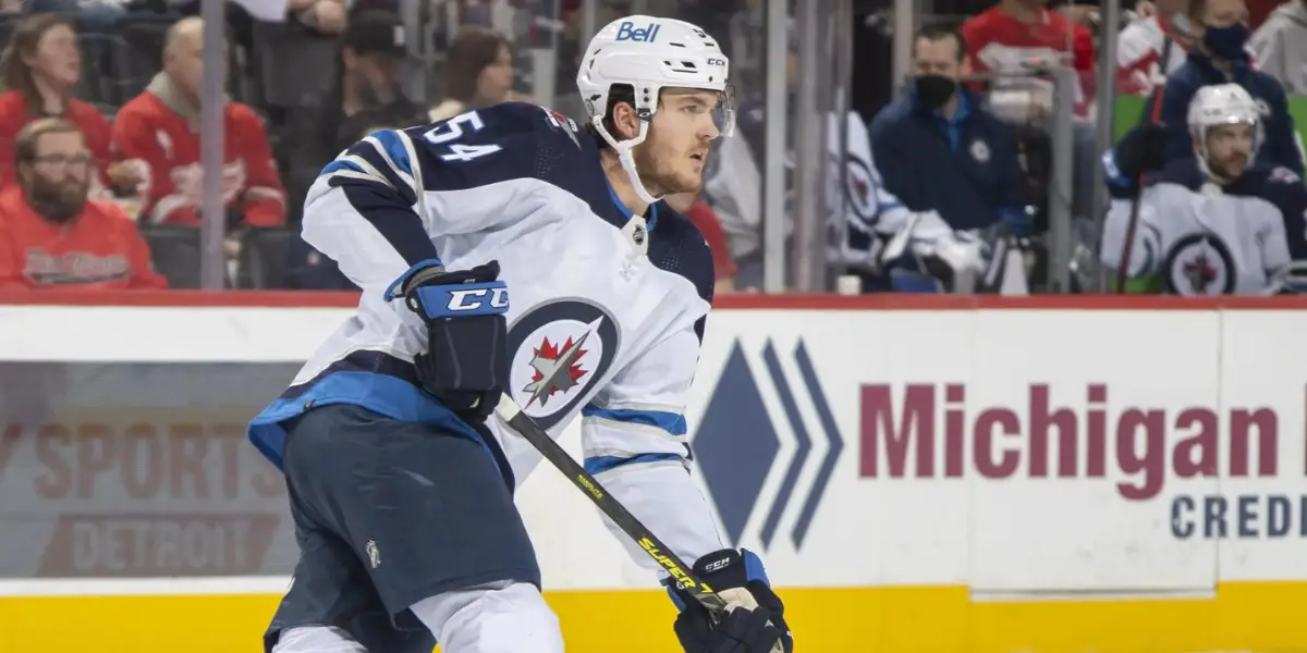
<svg viewBox="0 0 1307 653">
<path fill-rule="evenodd" d="M 908 209 L 937 210 L 953 229 L 984 229 L 1026 206 L 1026 183 L 1008 125 L 959 89 L 953 120 L 908 91 L 872 120 L 872 155 L 885 189 Z"/>
</svg>

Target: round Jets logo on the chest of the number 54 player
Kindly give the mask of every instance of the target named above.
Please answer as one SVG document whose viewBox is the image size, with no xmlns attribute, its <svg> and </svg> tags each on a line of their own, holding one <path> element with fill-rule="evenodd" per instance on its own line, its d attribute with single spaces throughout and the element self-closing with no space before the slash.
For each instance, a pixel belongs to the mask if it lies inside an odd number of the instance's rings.
<svg viewBox="0 0 1307 653">
<path fill-rule="evenodd" d="M 621 330 L 612 313 L 569 298 L 538 304 L 508 326 L 512 398 L 542 428 L 588 401 L 613 366 Z"/>
</svg>

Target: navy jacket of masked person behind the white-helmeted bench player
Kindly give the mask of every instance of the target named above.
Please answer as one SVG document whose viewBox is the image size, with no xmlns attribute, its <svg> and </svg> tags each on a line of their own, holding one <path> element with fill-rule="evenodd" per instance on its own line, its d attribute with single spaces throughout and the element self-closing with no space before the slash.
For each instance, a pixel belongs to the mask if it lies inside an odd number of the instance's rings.
<svg viewBox="0 0 1307 653">
<path fill-rule="evenodd" d="M 1162 124 L 1170 133 L 1166 141 L 1166 158 L 1174 161 L 1193 157 L 1193 140 L 1189 137 L 1189 102 L 1202 86 L 1230 82 L 1243 86 L 1253 99 L 1266 104 L 1269 112 L 1265 118 L 1266 141 L 1263 144 L 1257 159 L 1270 166 L 1287 167 L 1300 176 L 1303 174 L 1303 157 L 1298 149 L 1298 135 L 1294 131 L 1294 119 L 1289 115 L 1289 99 L 1285 97 L 1283 86 L 1274 77 L 1251 68 L 1247 61 L 1236 63 L 1234 74 L 1226 77 L 1225 72 L 1218 69 L 1212 59 L 1202 52 L 1189 52 L 1184 65 L 1166 78 L 1161 116 Z M 1149 108 L 1149 114 L 1151 114 L 1151 108 Z"/>
</svg>

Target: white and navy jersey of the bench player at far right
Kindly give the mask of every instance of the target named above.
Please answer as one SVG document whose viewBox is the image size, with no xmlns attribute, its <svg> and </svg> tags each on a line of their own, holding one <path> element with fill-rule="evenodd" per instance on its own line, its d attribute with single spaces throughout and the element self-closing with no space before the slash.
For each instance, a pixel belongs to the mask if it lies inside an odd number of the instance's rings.
<svg viewBox="0 0 1307 653">
<path fill-rule="evenodd" d="M 1287 168 L 1253 167 L 1218 187 L 1193 159 L 1174 162 L 1144 189 L 1129 277 L 1175 295 L 1274 293 L 1277 273 L 1307 256 L 1304 214 L 1307 187 Z M 1121 264 L 1129 219 L 1131 200 L 1112 200 L 1100 251 L 1108 268 Z"/>
</svg>

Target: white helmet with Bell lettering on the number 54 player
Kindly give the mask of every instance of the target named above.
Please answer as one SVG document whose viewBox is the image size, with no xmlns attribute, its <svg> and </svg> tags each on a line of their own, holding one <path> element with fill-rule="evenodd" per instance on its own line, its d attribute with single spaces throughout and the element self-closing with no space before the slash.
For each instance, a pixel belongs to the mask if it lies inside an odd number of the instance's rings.
<svg viewBox="0 0 1307 653">
<path fill-rule="evenodd" d="M 728 72 L 729 61 L 716 39 L 685 21 L 627 16 L 605 25 L 589 40 L 576 72 L 576 88 L 591 124 L 617 153 L 642 200 L 652 204 L 659 199 L 640 183 L 631 150 L 648 136 L 659 93 L 668 88 L 720 93 L 714 120 L 721 136 L 731 136 L 735 131 L 735 90 L 727 84 Z M 631 86 L 635 111 L 640 116 L 639 135 L 621 142 L 604 128 L 608 95 L 614 84 Z"/>
</svg>

